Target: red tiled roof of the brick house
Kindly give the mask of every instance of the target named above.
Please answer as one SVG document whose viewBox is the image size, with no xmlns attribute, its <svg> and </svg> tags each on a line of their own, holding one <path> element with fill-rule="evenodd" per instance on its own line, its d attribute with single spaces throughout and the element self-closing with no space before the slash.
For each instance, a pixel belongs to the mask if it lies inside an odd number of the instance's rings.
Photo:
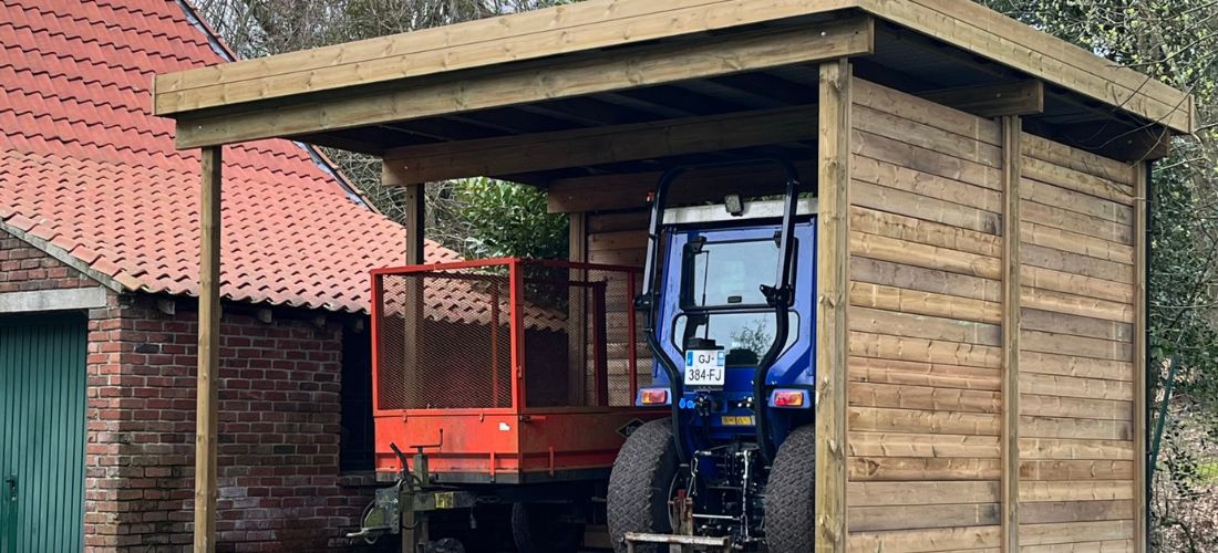
<svg viewBox="0 0 1218 553">
<path fill-rule="evenodd" d="M 174 0 L 0 0 L 0 221 L 143 292 L 196 295 L 199 152 L 152 117 L 152 75 L 224 62 Z M 304 147 L 224 149 L 222 294 L 368 309 L 402 226 Z M 428 243 L 431 260 L 457 255 Z"/>
</svg>

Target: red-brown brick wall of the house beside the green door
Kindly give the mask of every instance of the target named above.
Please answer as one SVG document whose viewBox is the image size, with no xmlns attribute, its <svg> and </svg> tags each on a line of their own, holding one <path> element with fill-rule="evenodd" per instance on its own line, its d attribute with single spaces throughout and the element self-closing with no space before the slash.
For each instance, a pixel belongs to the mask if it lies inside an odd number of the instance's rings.
<svg viewBox="0 0 1218 553">
<path fill-rule="evenodd" d="M 99 286 L 0 231 L 0 293 Z M 186 305 L 183 305 L 186 304 Z M 192 301 L 110 294 L 88 317 L 85 548 L 189 551 L 194 509 Z M 339 473 L 342 329 L 315 312 L 264 323 L 225 304 L 220 348 L 220 552 L 345 546 L 370 481 Z M 245 310 L 246 314 L 241 314 Z M 295 315 L 295 317 L 292 317 Z"/>
</svg>

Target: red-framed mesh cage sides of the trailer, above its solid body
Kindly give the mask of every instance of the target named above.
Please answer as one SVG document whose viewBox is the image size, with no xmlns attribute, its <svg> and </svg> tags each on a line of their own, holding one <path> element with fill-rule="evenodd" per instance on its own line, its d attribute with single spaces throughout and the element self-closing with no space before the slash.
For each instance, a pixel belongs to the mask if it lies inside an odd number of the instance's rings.
<svg viewBox="0 0 1218 553">
<path fill-rule="evenodd" d="M 630 406 L 650 383 L 632 312 L 637 270 L 498 260 L 378 282 L 380 410 Z M 523 405 L 513 404 L 513 346 Z"/>
</svg>

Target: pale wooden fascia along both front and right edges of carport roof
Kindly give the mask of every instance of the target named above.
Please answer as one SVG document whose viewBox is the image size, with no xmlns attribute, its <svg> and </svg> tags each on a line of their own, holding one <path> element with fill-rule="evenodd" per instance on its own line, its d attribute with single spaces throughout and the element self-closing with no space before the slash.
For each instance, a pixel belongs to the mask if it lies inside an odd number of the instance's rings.
<svg viewBox="0 0 1218 553">
<path fill-rule="evenodd" d="M 212 108 L 862 12 L 1179 131 L 1190 96 L 970 0 L 590 0 L 158 75 L 155 112 Z"/>
</svg>

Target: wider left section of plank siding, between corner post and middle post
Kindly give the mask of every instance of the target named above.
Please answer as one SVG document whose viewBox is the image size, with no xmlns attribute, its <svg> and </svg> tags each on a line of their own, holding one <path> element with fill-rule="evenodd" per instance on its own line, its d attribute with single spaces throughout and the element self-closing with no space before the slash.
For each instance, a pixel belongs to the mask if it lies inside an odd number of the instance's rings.
<svg viewBox="0 0 1218 553">
<path fill-rule="evenodd" d="M 859 79 L 854 102 L 849 549 L 996 552 L 1001 129 Z"/>
</svg>

